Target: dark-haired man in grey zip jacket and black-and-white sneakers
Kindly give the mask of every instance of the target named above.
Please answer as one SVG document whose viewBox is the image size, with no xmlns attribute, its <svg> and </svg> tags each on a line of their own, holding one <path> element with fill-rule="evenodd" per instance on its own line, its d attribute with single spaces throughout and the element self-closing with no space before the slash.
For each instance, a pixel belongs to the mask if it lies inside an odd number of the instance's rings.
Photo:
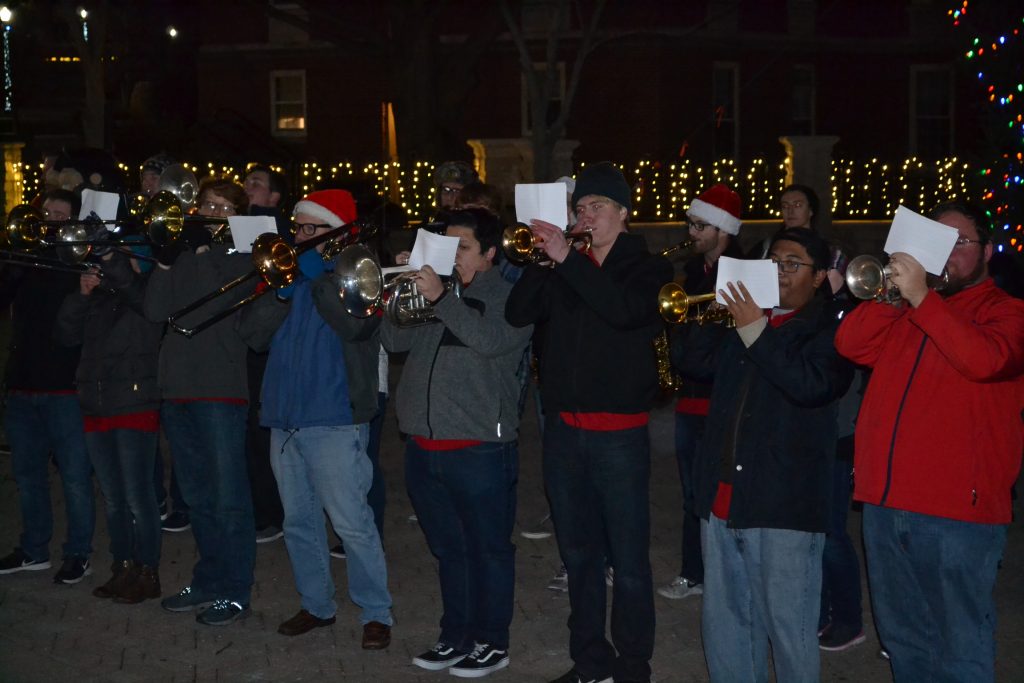
<svg viewBox="0 0 1024 683">
<path fill-rule="evenodd" d="M 517 371 L 532 328 L 505 319 L 512 286 L 495 265 L 498 217 L 456 210 L 446 232 L 459 238 L 453 276 L 464 294 L 447 292 L 423 266 L 416 283 L 437 322 L 403 328 L 385 319 L 382 339 L 392 353 L 409 351 L 396 392 L 398 427 L 409 434 L 406 484 L 441 583 L 440 636 L 413 664 L 479 678 L 509 664 Z"/>
</svg>

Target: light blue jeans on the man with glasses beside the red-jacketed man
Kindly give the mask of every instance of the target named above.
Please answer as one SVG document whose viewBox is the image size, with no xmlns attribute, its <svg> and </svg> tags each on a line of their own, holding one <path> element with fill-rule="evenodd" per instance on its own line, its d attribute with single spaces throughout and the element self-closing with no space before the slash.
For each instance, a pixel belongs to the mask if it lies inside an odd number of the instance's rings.
<svg viewBox="0 0 1024 683">
<path fill-rule="evenodd" d="M 817 683 L 824 533 L 700 523 L 705 559 L 700 633 L 712 681 Z"/>
</svg>

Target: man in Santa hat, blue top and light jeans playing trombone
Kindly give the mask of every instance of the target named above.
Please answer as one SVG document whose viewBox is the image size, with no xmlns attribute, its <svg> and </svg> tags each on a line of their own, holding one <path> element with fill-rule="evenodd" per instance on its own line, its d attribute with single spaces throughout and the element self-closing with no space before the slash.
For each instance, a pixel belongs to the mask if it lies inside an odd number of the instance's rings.
<svg viewBox="0 0 1024 683">
<path fill-rule="evenodd" d="M 343 189 L 311 193 L 292 212 L 295 244 L 351 223 Z M 330 278 L 321 243 L 299 256 L 296 281 L 244 310 L 240 331 L 269 348 L 260 424 L 270 429 L 270 465 L 285 509 L 285 546 L 301 608 L 278 627 L 299 636 L 335 623 L 334 581 L 324 512 L 345 544 L 348 594 L 361 609 L 362 648 L 391 642 L 391 596 L 380 533 L 367 493 L 370 422 L 378 410 L 380 317 L 355 317 Z"/>
</svg>

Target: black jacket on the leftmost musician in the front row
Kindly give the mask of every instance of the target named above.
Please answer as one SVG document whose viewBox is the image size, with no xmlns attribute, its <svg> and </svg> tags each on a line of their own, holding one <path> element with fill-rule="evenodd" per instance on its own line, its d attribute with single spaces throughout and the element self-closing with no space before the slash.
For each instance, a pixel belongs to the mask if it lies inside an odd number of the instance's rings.
<svg viewBox="0 0 1024 683">
<path fill-rule="evenodd" d="M 74 391 L 80 348 L 57 343 L 53 323 L 65 297 L 78 290 L 80 276 L 12 265 L 0 268 L 0 308 L 13 304 L 6 388 Z"/>
</svg>

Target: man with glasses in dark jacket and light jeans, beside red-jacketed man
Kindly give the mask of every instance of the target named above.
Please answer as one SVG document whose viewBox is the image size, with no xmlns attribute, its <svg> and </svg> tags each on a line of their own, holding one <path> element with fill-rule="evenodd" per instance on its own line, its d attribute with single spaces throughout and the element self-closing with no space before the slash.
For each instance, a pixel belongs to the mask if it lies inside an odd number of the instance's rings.
<svg viewBox="0 0 1024 683">
<path fill-rule="evenodd" d="M 820 290 L 827 244 L 783 229 L 769 257 L 779 306 L 766 315 L 742 283 L 728 283 L 719 294 L 735 330 L 685 326 L 673 359 L 684 377 L 715 383 L 694 468 L 711 680 L 768 680 L 770 643 L 779 681 L 811 683 L 837 404 L 851 368 Z"/>
</svg>

